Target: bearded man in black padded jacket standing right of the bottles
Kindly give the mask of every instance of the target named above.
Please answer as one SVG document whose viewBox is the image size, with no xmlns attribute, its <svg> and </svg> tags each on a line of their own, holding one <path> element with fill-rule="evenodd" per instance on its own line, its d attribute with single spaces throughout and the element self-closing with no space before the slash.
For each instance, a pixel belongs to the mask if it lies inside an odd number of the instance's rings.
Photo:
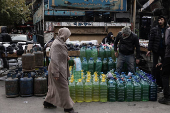
<svg viewBox="0 0 170 113">
<path fill-rule="evenodd" d="M 165 56 L 165 30 L 166 30 L 166 19 L 163 16 L 158 17 L 158 25 L 153 27 L 150 32 L 150 39 L 148 45 L 148 56 L 151 51 L 153 52 L 153 66 L 152 75 L 156 77 L 156 64 L 158 64 L 158 59 L 161 57 L 161 63 L 164 61 Z M 159 80 L 157 80 L 158 82 Z"/>
</svg>

